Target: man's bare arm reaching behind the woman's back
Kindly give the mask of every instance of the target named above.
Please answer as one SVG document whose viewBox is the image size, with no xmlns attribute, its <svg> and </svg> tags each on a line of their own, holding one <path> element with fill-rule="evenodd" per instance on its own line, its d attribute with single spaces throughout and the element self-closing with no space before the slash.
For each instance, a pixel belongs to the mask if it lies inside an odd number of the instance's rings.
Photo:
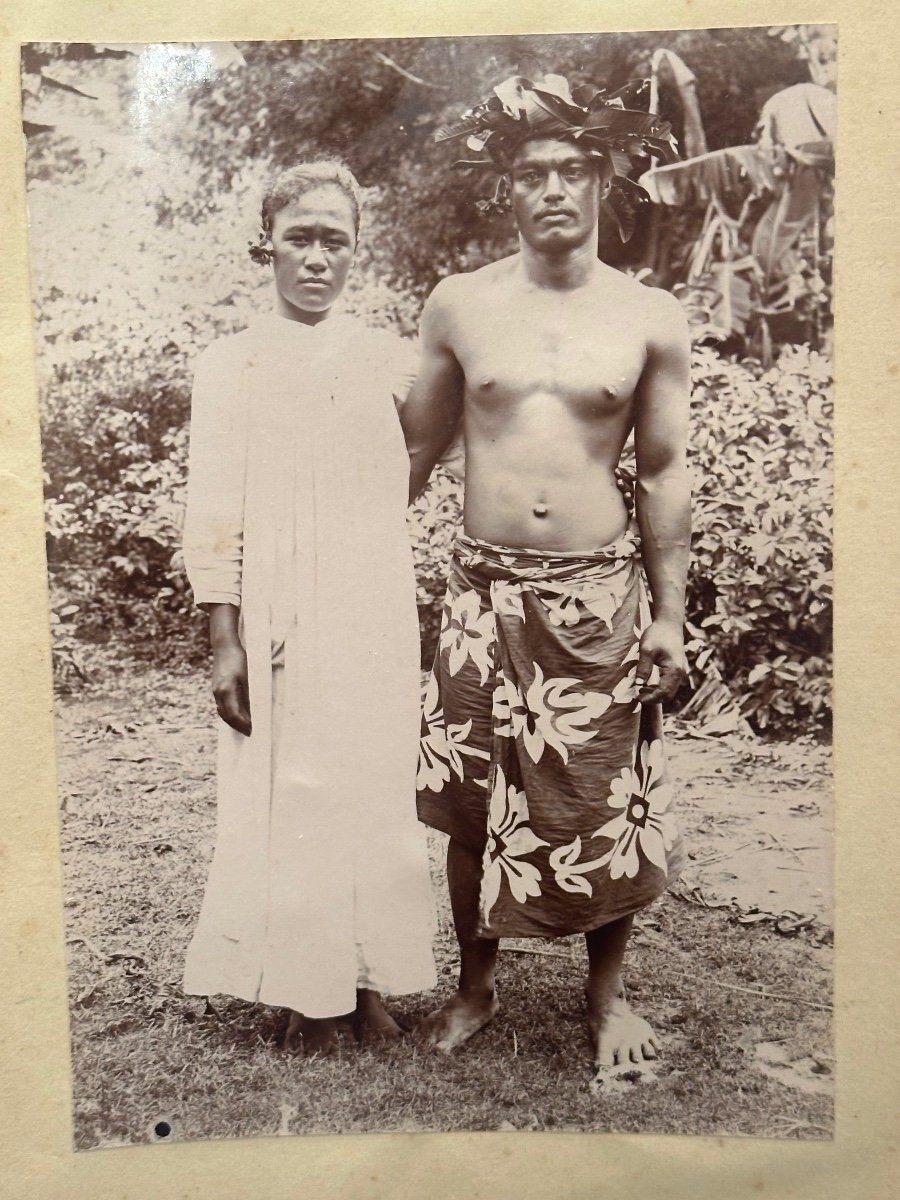
<svg viewBox="0 0 900 1200">
<path fill-rule="evenodd" d="M 420 362 L 415 383 L 400 413 L 409 452 L 409 503 L 454 439 L 462 416 L 466 377 L 451 349 L 451 280 L 442 280 L 425 302 Z"/>
</svg>

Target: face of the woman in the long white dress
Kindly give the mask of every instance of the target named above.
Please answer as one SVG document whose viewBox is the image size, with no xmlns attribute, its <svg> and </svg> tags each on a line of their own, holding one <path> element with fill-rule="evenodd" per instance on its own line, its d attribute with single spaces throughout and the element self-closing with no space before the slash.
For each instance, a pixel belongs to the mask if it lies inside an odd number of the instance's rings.
<svg viewBox="0 0 900 1200">
<path fill-rule="evenodd" d="M 282 314 L 317 324 L 343 290 L 356 250 L 349 197 L 334 184 L 310 188 L 275 214 L 271 241 Z"/>
</svg>

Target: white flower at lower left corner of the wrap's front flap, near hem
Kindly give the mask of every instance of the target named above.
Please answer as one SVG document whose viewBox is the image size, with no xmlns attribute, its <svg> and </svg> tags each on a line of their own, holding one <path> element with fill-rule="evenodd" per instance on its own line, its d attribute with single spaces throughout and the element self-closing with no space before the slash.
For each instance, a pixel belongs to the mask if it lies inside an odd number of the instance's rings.
<svg viewBox="0 0 900 1200">
<path fill-rule="evenodd" d="M 548 842 L 535 836 L 529 826 L 526 794 L 506 784 L 503 768 L 498 767 L 491 792 L 487 821 L 487 845 L 481 876 L 481 914 L 485 924 L 497 904 L 505 877 L 512 899 L 524 904 L 529 896 L 541 894 L 541 875 L 534 863 L 523 862 L 540 846 Z"/>
</svg>

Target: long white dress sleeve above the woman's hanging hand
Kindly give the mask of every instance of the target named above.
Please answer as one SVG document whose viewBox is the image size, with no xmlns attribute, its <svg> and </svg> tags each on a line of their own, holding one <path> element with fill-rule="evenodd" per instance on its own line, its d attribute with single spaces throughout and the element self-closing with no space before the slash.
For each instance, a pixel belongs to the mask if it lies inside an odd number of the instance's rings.
<svg viewBox="0 0 900 1200">
<path fill-rule="evenodd" d="M 247 420 L 233 358 L 215 343 L 197 360 L 184 552 L 196 604 L 240 607 Z"/>
</svg>

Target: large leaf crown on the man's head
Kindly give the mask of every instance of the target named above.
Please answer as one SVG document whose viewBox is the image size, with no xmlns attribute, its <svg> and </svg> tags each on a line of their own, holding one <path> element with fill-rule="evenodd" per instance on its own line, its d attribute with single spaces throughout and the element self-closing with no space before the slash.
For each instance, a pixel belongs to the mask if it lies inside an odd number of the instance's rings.
<svg viewBox="0 0 900 1200">
<path fill-rule="evenodd" d="M 678 157 L 668 121 L 629 107 L 648 90 L 648 82 L 635 80 L 610 92 L 589 83 L 570 86 L 564 76 L 544 74 L 534 66 L 532 78 L 515 74 L 504 79 L 487 100 L 439 128 L 434 140 L 464 137 L 467 148 L 478 157 L 461 158 L 452 166 L 500 173 L 491 199 L 476 202 L 482 216 L 510 208 L 509 172 L 524 140 L 547 137 L 574 142 L 592 158 L 608 163 L 606 205 L 622 240 L 628 241 L 635 229 L 635 214 L 648 200 L 647 192 L 629 178 L 634 160 L 654 155 L 673 162 Z"/>
</svg>

